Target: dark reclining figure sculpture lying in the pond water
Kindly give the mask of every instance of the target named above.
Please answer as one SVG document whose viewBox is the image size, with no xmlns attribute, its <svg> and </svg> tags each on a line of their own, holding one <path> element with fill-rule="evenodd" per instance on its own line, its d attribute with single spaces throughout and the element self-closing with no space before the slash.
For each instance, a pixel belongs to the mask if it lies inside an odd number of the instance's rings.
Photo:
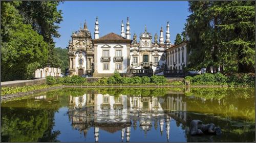
<svg viewBox="0 0 256 143">
<path fill-rule="evenodd" d="M 190 122 L 190 134 L 197 135 L 197 134 L 221 134 L 221 128 L 216 127 L 214 124 L 203 124 L 200 120 L 192 120 Z"/>
</svg>

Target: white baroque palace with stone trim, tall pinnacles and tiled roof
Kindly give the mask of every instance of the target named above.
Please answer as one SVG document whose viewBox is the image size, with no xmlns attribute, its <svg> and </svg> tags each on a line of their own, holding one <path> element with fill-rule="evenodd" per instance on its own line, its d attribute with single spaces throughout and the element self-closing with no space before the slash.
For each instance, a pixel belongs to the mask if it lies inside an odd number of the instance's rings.
<svg viewBox="0 0 256 143">
<path fill-rule="evenodd" d="M 187 64 L 186 41 L 178 45 L 170 43 L 169 21 L 166 24 L 165 39 L 162 27 L 158 38 L 157 34 L 153 37 L 148 33 L 146 26 L 139 41 L 136 34 L 131 39 L 128 17 L 126 28 L 121 22 L 120 35 L 109 33 L 99 37 L 99 22 L 96 17 L 94 39 L 86 22 L 71 37 L 67 47 L 71 76 L 91 74 L 93 77 L 108 77 L 114 71 L 125 76 L 163 75 L 174 73 L 174 70 L 182 73 Z"/>
</svg>

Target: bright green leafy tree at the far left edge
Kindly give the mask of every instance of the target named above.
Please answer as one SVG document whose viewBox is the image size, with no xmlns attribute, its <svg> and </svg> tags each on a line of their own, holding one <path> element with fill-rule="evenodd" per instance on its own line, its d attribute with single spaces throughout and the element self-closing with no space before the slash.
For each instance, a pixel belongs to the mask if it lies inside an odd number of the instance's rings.
<svg viewBox="0 0 256 143">
<path fill-rule="evenodd" d="M 23 23 L 16 9 L 20 2 L 1 4 L 1 81 L 25 79 L 29 70 L 47 61 L 48 44 L 30 24 Z"/>
</svg>

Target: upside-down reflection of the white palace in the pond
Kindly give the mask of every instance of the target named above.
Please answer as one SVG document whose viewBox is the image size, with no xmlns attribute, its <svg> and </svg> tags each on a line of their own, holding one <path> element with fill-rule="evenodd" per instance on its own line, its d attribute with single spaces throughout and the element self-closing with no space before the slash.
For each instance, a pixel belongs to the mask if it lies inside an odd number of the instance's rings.
<svg viewBox="0 0 256 143">
<path fill-rule="evenodd" d="M 182 112 L 175 112 L 182 110 Z M 184 112 L 183 112 L 184 111 Z M 111 96 L 102 94 L 84 94 L 69 97 L 69 118 L 73 128 L 87 135 L 94 126 L 95 141 L 99 140 L 100 130 L 114 133 L 121 132 L 120 139 L 130 141 L 131 127 L 145 132 L 160 126 L 160 134 L 166 132 L 169 139 L 170 120 L 186 122 L 186 102 L 182 96 L 143 97 Z M 165 129 L 164 129 L 165 128 Z"/>
</svg>

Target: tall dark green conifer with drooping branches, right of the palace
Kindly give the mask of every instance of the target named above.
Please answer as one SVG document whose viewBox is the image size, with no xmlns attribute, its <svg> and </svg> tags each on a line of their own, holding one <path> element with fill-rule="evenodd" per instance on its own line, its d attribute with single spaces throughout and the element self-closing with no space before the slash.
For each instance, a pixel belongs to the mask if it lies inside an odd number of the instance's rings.
<svg viewBox="0 0 256 143">
<path fill-rule="evenodd" d="M 190 68 L 254 70 L 254 2 L 189 2 Z M 216 70 L 214 70 L 216 71 Z"/>
</svg>

